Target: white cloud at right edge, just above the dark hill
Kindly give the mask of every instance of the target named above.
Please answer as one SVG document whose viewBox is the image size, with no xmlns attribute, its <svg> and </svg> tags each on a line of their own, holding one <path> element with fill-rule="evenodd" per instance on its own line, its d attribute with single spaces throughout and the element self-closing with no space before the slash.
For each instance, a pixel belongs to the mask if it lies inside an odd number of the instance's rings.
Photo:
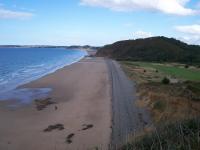
<svg viewBox="0 0 200 150">
<path fill-rule="evenodd" d="M 200 25 L 181 25 L 175 27 L 176 31 L 184 34 L 183 37 L 180 37 L 180 40 L 183 40 L 189 44 L 200 45 Z"/>
</svg>

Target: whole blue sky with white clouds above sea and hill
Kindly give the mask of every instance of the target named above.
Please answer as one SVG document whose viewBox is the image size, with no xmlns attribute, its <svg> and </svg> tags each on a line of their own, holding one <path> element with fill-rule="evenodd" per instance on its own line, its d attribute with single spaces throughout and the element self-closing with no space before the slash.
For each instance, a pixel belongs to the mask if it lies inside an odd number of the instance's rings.
<svg viewBox="0 0 200 150">
<path fill-rule="evenodd" d="M 200 0 L 0 0 L 0 45 L 93 45 L 152 36 L 200 45 Z"/>
</svg>

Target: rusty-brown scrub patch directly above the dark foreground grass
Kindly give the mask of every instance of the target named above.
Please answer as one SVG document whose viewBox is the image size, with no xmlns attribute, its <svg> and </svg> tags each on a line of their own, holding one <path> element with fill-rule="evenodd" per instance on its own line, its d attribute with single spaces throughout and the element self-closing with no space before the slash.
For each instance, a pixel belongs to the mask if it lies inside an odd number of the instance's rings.
<svg viewBox="0 0 200 150">
<path fill-rule="evenodd" d="M 176 121 L 200 115 L 200 103 L 188 98 L 183 85 L 141 84 L 138 106 L 147 107 L 155 123 Z"/>
</svg>

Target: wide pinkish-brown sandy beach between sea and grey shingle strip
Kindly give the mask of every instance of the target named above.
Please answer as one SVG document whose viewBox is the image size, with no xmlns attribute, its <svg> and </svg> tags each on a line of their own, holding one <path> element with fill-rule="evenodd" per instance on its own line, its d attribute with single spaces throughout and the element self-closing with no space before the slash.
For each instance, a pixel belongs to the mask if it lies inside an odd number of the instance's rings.
<svg viewBox="0 0 200 150">
<path fill-rule="evenodd" d="M 1 150 L 108 148 L 111 87 L 103 58 L 84 58 L 20 88 L 52 88 L 55 104 L 39 111 L 34 101 L 16 109 L 0 103 Z M 56 124 L 64 129 L 44 132 Z"/>
</svg>

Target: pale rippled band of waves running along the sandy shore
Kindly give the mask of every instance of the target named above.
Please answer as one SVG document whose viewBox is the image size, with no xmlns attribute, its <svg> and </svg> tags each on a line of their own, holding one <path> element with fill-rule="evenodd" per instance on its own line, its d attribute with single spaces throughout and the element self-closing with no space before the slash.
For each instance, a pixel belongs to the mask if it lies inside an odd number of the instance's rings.
<svg viewBox="0 0 200 150">
<path fill-rule="evenodd" d="M 77 54 L 73 52 L 66 56 L 59 55 L 58 58 L 47 59 L 46 63 L 29 64 L 27 66 L 25 64 L 23 67 L 19 67 L 19 69 L 5 75 L 2 75 L 0 71 L 0 94 L 2 95 L 20 85 L 53 73 L 67 65 L 71 65 L 86 55 L 87 53 L 83 51 L 77 52 Z"/>
</svg>

